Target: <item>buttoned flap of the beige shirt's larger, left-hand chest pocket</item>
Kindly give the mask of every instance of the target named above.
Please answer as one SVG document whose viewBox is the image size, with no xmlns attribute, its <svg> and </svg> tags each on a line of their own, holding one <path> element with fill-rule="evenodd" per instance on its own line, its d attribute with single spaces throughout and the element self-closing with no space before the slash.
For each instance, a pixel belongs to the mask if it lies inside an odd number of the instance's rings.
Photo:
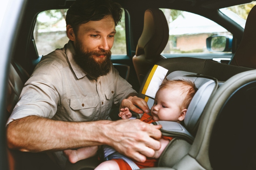
<svg viewBox="0 0 256 170">
<path fill-rule="evenodd" d="M 86 96 L 80 98 L 71 98 L 70 107 L 73 110 L 82 110 L 86 108 L 95 108 L 99 104 L 98 96 Z"/>
</svg>

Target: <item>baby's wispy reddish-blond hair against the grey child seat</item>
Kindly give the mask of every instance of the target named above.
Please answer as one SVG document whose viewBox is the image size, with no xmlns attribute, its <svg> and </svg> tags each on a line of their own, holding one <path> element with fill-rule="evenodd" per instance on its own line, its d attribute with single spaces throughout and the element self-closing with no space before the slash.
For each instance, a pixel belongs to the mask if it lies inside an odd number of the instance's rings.
<svg viewBox="0 0 256 170">
<path fill-rule="evenodd" d="M 159 90 L 165 88 L 180 91 L 180 95 L 184 98 L 183 103 L 180 105 L 181 109 L 188 108 L 189 103 L 197 91 L 195 83 L 190 80 L 168 80 L 165 78 Z"/>
</svg>

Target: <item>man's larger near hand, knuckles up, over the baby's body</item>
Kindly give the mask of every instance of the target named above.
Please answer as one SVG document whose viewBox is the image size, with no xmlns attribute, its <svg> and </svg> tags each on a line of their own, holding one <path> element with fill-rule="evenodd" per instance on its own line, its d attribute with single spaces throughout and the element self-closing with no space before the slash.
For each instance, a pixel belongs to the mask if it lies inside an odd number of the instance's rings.
<svg viewBox="0 0 256 170">
<path fill-rule="evenodd" d="M 153 157 L 161 147 L 158 141 L 161 138 L 161 125 L 125 119 L 109 122 L 104 127 L 105 130 L 101 131 L 108 138 L 106 144 L 136 161 L 146 161 L 146 157 Z"/>
</svg>

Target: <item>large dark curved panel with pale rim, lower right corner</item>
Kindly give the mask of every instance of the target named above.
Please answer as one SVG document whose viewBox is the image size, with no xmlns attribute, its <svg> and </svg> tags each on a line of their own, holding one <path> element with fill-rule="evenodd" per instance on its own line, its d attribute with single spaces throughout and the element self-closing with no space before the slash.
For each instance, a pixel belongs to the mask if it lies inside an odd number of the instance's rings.
<svg viewBox="0 0 256 170">
<path fill-rule="evenodd" d="M 206 127 L 211 135 L 203 140 L 209 142 L 213 169 L 256 169 L 255 103 L 256 70 L 233 76 L 212 99 L 207 110 L 214 123 Z"/>
</svg>

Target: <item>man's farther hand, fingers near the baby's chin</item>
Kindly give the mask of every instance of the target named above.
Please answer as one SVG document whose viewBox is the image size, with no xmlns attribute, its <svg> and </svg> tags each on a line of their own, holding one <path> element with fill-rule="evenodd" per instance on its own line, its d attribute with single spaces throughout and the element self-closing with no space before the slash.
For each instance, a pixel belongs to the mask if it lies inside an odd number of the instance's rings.
<svg viewBox="0 0 256 170">
<path fill-rule="evenodd" d="M 142 110 L 140 110 L 141 108 Z M 137 96 L 129 96 L 127 99 L 124 99 L 120 104 L 120 109 L 128 107 L 129 110 L 132 110 L 136 113 L 142 114 L 143 112 L 149 113 L 150 109 L 148 108 L 147 102 L 142 98 L 138 98 Z"/>
</svg>

